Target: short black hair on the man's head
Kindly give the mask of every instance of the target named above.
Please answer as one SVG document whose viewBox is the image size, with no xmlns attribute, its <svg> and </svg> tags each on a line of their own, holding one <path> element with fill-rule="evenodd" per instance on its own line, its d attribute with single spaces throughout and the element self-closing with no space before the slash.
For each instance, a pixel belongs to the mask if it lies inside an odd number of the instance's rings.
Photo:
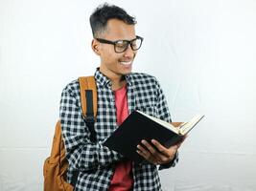
<svg viewBox="0 0 256 191">
<path fill-rule="evenodd" d="M 137 23 L 135 17 L 130 16 L 124 9 L 104 3 L 97 7 L 90 15 L 93 37 L 98 37 L 100 33 L 105 32 L 107 21 L 113 18 L 124 21 L 128 25 L 135 25 Z"/>
</svg>

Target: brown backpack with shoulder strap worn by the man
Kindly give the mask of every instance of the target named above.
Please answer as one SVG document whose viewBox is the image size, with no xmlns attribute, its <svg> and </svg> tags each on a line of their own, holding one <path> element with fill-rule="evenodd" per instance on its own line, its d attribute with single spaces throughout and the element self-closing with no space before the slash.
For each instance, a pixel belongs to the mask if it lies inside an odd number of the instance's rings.
<svg viewBox="0 0 256 191">
<path fill-rule="evenodd" d="M 89 127 L 91 140 L 96 140 L 94 118 L 97 114 L 97 88 L 94 76 L 80 77 L 81 109 L 86 125 Z M 77 175 L 72 177 L 72 184 L 66 181 L 68 161 L 65 158 L 65 147 L 61 136 L 60 121 L 56 124 L 50 157 L 43 165 L 44 191 L 73 191 Z"/>
</svg>

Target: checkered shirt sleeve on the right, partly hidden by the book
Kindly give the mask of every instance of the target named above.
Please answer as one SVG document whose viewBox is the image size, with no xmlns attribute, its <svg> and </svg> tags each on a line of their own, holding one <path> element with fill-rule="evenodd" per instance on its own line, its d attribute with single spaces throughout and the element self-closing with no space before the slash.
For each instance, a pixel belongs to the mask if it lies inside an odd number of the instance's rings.
<svg viewBox="0 0 256 191">
<path fill-rule="evenodd" d="M 167 122 L 172 122 L 167 100 L 157 80 L 156 80 L 156 87 L 157 87 L 157 97 L 158 97 L 158 100 L 157 100 L 158 117 L 160 117 L 162 120 L 165 120 Z M 175 167 L 177 162 L 178 162 L 178 152 L 176 152 L 175 154 L 175 159 L 173 159 L 169 163 L 161 164 L 159 166 L 159 170 Z"/>
</svg>

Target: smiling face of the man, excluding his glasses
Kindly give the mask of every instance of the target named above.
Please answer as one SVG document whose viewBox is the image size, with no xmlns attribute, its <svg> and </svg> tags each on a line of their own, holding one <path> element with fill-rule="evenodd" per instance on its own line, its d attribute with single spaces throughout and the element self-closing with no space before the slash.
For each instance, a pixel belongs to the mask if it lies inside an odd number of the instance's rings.
<svg viewBox="0 0 256 191">
<path fill-rule="evenodd" d="M 134 25 L 128 25 L 118 19 L 107 21 L 106 31 L 99 38 L 105 40 L 132 40 L 136 38 Z M 136 51 L 132 51 L 130 45 L 124 53 L 115 53 L 114 45 L 98 43 L 99 55 L 101 57 L 100 70 L 109 78 L 119 78 L 124 74 L 129 74 Z"/>
</svg>

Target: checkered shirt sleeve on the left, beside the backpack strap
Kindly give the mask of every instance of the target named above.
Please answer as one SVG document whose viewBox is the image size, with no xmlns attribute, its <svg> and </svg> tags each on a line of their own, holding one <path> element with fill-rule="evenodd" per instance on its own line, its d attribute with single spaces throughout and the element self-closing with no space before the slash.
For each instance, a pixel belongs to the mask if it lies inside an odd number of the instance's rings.
<svg viewBox="0 0 256 191">
<path fill-rule="evenodd" d="M 65 88 L 60 100 L 60 123 L 66 158 L 72 169 L 93 170 L 110 165 L 123 157 L 102 143 L 92 143 L 81 115 L 78 99 L 72 89 Z"/>
</svg>

